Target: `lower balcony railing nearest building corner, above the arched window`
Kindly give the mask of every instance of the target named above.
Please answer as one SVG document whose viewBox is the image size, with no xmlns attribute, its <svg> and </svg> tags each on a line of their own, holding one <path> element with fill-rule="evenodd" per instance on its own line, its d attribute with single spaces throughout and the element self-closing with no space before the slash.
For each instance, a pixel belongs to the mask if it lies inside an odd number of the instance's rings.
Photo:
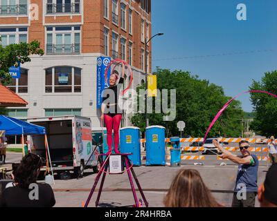
<svg viewBox="0 0 277 221">
<path fill-rule="evenodd" d="M 80 44 L 46 44 L 47 55 L 79 55 Z"/>
</svg>

